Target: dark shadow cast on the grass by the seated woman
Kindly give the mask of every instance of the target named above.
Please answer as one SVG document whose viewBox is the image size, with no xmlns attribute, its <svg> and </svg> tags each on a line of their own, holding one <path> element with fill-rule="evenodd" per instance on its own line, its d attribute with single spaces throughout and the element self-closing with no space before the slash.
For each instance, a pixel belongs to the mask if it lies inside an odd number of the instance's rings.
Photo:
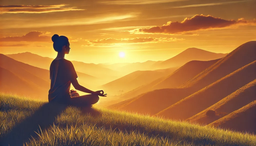
<svg viewBox="0 0 256 146">
<path fill-rule="evenodd" d="M 43 131 L 52 126 L 55 117 L 60 115 L 67 107 L 68 105 L 58 103 L 46 103 L 42 105 L 31 116 L 18 123 L 0 139 L 0 146 L 18 146 L 30 142 L 29 139 L 31 139 L 31 137 L 38 137 L 36 132 L 40 131 L 40 128 Z M 83 114 L 90 114 L 91 116 L 100 115 L 97 110 L 91 107 L 80 108 Z"/>
</svg>

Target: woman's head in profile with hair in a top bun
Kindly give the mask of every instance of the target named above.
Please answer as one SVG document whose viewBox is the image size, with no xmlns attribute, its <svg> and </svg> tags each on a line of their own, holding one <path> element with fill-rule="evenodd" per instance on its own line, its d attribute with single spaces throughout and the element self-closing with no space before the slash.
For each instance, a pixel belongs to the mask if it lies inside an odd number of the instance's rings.
<svg viewBox="0 0 256 146">
<path fill-rule="evenodd" d="M 55 34 L 51 37 L 51 40 L 53 41 L 53 48 L 56 52 L 64 52 L 65 54 L 69 53 L 70 43 L 67 37 Z"/>
</svg>

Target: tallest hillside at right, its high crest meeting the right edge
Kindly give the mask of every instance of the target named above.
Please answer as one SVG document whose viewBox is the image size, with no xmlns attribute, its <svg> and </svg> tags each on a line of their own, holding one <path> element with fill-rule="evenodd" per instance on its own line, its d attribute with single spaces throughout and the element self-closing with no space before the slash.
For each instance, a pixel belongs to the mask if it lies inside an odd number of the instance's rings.
<svg viewBox="0 0 256 146">
<path fill-rule="evenodd" d="M 256 41 L 249 41 L 225 57 L 220 59 L 215 64 L 211 65 L 206 70 L 197 74 L 195 77 L 186 81 L 180 88 L 192 87 L 195 90 L 202 89 L 220 78 L 238 70 L 239 68 L 256 60 Z"/>
</svg>

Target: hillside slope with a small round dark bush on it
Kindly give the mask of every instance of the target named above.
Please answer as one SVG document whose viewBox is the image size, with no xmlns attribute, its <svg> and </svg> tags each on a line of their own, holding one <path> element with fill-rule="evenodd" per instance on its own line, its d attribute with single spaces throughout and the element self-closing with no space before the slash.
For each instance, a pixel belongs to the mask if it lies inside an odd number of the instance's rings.
<svg viewBox="0 0 256 146">
<path fill-rule="evenodd" d="M 235 110 L 238 110 L 239 108 L 242 108 L 243 106 L 246 106 L 254 100 L 256 100 L 256 79 L 223 98 L 216 104 L 208 107 L 193 117 L 188 118 L 187 121 L 207 125 Z M 214 110 L 216 112 L 216 116 L 206 116 L 206 112 L 209 110 Z"/>
</svg>

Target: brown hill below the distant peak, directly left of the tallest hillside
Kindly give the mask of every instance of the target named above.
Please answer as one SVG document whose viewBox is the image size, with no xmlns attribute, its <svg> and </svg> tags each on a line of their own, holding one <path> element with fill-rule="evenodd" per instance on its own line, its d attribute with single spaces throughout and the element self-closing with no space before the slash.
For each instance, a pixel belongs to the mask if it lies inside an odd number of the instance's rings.
<svg viewBox="0 0 256 146">
<path fill-rule="evenodd" d="M 153 89 L 162 89 L 162 88 L 174 88 L 182 85 L 184 82 L 194 77 L 201 71 L 205 70 L 212 64 L 216 63 L 220 59 L 210 60 L 210 61 L 198 61 L 193 60 L 189 61 L 180 67 L 178 70 L 167 76 L 158 84 L 154 85 Z"/>
</svg>

